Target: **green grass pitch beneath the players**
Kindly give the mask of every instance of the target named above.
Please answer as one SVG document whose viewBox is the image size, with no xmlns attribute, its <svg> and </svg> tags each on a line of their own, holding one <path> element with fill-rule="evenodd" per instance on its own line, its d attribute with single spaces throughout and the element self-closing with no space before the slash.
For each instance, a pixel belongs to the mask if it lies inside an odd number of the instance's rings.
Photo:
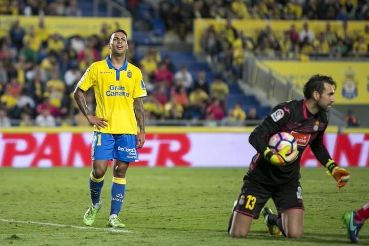
<svg viewBox="0 0 369 246">
<path fill-rule="evenodd" d="M 119 215 L 126 229 L 113 232 L 105 227 L 111 167 L 94 229 L 83 224 L 89 168 L 0 168 L 0 245 L 350 245 L 341 216 L 369 201 L 369 169 L 348 169 L 351 180 L 342 191 L 325 169 L 301 169 L 303 238 L 270 236 L 260 218 L 247 239 L 233 239 L 228 220 L 247 169 L 132 167 Z M 274 208 L 272 201 L 268 206 Z M 365 224 L 362 245 L 369 244 L 368 232 Z"/>
</svg>

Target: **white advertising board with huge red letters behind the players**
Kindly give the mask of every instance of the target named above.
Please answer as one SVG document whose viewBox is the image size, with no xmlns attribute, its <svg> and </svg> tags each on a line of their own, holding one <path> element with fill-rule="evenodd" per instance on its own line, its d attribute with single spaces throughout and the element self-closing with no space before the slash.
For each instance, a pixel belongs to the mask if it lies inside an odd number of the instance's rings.
<svg viewBox="0 0 369 246">
<path fill-rule="evenodd" d="M 248 167 L 255 149 L 249 133 L 147 134 L 139 162 L 146 167 Z M 88 167 L 92 133 L 0 133 L 0 167 Z M 327 133 L 327 150 L 339 166 L 369 166 L 369 134 Z M 310 149 L 301 166 L 317 167 Z"/>
</svg>

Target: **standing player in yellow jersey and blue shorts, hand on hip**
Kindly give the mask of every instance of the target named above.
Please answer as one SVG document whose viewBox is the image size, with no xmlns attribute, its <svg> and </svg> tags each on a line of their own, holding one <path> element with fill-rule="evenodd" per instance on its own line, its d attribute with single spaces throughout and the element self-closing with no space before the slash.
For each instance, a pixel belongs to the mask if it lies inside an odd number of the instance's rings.
<svg viewBox="0 0 369 246">
<path fill-rule="evenodd" d="M 118 218 L 125 197 L 126 172 L 131 161 L 138 161 L 137 149 L 145 143 L 145 112 L 142 97 L 147 96 L 141 71 L 127 62 L 127 33 L 118 29 L 110 35 L 110 55 L 93 63 L 74 91 L 81 112 L 94 126 L 90 174 L 92 204 L 85 213 L 84 223 L 90 226 L 101 208 L 100 193 L 108 161 L 114 158 L 111 209 L 108 227 L 122 228 Z M 85 101 L 84 92 L 95 90 L 96 115 Z M 137 136 L 137 123 L 139 133 Z"/>
</svg>

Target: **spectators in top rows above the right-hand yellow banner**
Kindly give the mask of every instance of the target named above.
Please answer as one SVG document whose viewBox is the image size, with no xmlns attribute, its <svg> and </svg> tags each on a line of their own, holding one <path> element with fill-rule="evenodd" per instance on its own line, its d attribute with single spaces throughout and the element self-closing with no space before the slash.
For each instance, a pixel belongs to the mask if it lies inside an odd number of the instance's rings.
<svg viewBox="0 0 369 246">
<path fill-rule="evenodd" d="M 185 39 L 195 18 L 367 20 L 363 0 L 116 0 L 133 18 L 152 24 L 160 18 L 168 31 Z M 303 40 L 300 40 L 302 42 Z"/>
</svg>

